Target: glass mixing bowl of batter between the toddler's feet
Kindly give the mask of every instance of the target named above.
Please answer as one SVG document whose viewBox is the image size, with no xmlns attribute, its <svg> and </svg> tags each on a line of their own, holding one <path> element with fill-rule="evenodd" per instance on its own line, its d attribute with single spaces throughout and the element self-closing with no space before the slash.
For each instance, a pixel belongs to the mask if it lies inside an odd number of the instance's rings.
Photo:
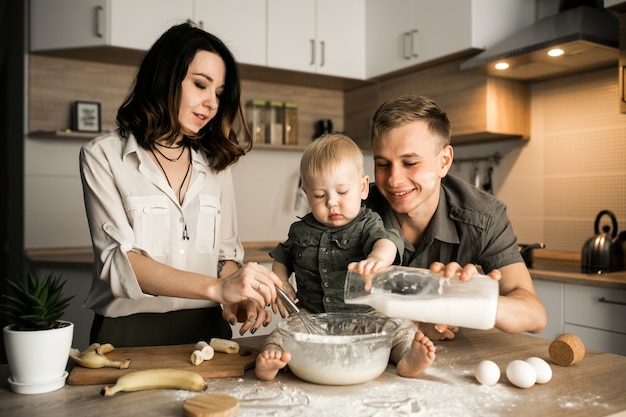
<svg viewBox="0 0 626 417">
<path fill-rule="evenodd" d="M 296 315 L 278 322 L 289 369 L 300 379 L 322 385 L 370 381 L 385 371 L 398 325 L 368 314 L 322 313 L 307 316 L 326 334 L 306 332 Z"/>
</svg>

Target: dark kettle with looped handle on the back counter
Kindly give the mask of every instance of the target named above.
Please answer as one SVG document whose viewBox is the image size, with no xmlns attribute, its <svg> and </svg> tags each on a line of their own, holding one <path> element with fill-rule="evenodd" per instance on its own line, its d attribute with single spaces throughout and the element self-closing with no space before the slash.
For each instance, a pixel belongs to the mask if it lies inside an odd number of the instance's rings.
<svg viewBox="0 0 626 417">
<path fill-rule="evenodd" d="M 600 232 L 600 220 L 605 215 L 611 219 L 611 226 L 604 225 Z M 582 272 L 602 274 L 624 269 L 624 242 L 622 240 L 626 240 L 626 234 L 622 232 L 617 238 L 615 214 L 610 210 L 599 212 L 594 230 L 595 236 L 587 239 L 582 248 Z"/>
</svg>

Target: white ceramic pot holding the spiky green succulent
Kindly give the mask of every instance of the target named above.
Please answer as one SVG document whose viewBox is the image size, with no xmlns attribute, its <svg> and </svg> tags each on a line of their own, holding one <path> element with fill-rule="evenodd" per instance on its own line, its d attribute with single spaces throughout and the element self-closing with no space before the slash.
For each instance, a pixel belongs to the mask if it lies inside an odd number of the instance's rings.
<svg viewBox="0 0 626 417">
<path fill-rule="evenodd" d="M 16 386 L 40 386 L 34 391 L 47 389 L 54 386 L 58 389 L 59 384 L 51 384 L 51 381 L 63 380 L 67 372 L 67 360 L 72 347 L 74 337 L 74 324 L 62 321 L 64 327 L 50 330 L 17 331 L 13 325 L 4 327 L 4 347 L 6 350 L 12 387 Z M 16 391 L 14 389 L 14 391 Z M 50 389 L 52 391 L 52 389 Z M 16 391 L 17 392 L 17 391 Z"/>
</svg>

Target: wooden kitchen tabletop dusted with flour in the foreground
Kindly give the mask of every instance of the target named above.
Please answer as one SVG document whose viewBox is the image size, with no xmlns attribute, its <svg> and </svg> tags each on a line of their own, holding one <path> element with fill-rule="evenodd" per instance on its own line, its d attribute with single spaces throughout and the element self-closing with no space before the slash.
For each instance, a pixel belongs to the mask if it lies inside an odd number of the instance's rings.
<svg viewBox="0 0 626 417">
<path fill-rule="evenodd" d="M 260 337 L 246 340 L 250 346 Z M 240 339 L 241 341 L 242 339 Z M 243 342 L 242 342 L 243 344 Z M 549 361 L 549 340 L 510 335 L 498 330 L 462 329 L 456 339 L 437 342 L 435 363 L 418 379 L 396 375 L 389 366 L 365 384 L 331 387 L 303 382 L 282 371 L 272 382 L 243 378 L 208 380 L 207 393 L 232 395 L 237 416 L 609 416 L 626 415 L 626 357 L 588 351 L 570 367 L 551 362 L 553 377 L 544 385 L 520 389 L 504 375 L 514 359 L 538 356 Z M 474 367 L 490 359 L 502 376 L 492 387 L 479 385 Z M 201 393 L 153 390 L 101 397 L 101 385 L 70 386 L 47 394 L 10 391 L 8 366 L 0 366 L 0 415 L 21 416 L 175 416 L 182 404 Z"/>
</svg>

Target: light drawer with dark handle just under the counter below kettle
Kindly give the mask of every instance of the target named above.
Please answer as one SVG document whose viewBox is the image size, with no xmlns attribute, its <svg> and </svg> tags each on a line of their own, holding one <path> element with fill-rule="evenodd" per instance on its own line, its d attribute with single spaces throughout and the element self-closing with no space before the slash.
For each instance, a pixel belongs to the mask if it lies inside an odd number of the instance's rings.
<svg viewBox="0 0 626 417">
<path fill-rule="evenodd" d="M 563 299 L 566 324 L 626 334 L 626 291 L 566 284 Z"/>
</svg>

